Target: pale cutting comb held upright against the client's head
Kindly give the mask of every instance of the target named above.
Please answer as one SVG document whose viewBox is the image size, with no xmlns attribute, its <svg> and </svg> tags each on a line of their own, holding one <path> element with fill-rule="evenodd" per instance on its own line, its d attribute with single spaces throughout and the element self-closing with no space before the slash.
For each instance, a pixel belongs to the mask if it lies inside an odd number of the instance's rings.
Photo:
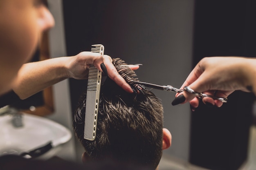
<svg viewBox="0 0 256 170">
<path fill-rule="evenodd" d="M 104 54 L 104 46 L 101 44 L 92 45 L 91 52 Z M 85 126 L 83 138 L 93 141 L 96 137 L 97 119 L 99 110 L 99 94 L 101 88 L 101 71 L 93 64 L 90 65 L 88 73 Z"/>
</svg>

